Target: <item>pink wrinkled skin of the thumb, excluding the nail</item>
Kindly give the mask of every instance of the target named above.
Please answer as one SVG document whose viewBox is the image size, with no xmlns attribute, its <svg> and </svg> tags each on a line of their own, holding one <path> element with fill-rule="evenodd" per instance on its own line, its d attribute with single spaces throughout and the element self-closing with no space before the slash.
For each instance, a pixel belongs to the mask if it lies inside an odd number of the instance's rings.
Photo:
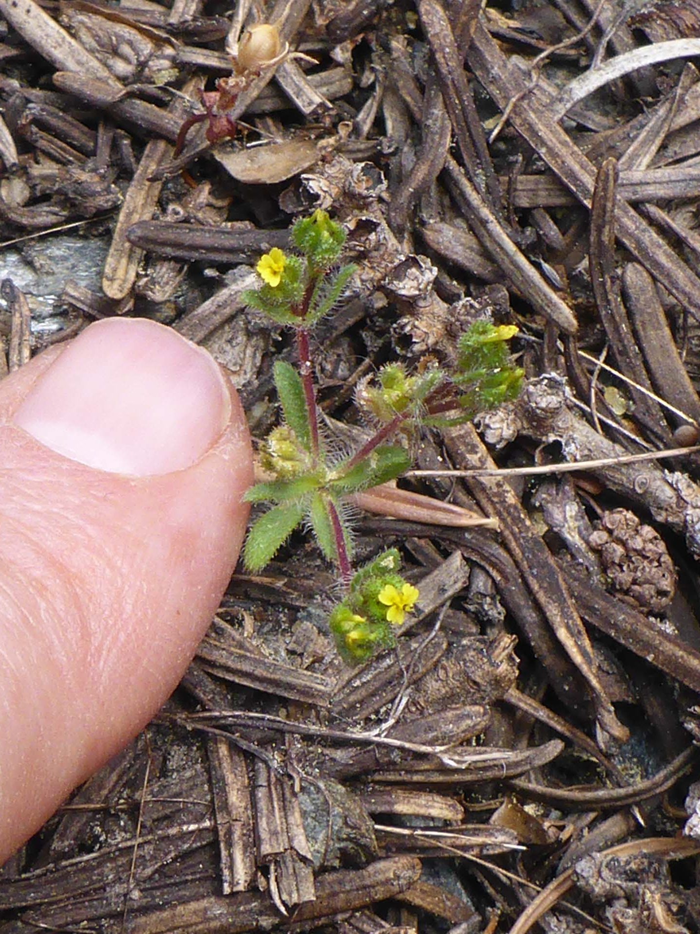
<svg viewBox="0 0 700 934">
<path fill-rule="evenodd" d="M 61 348 L 0 383 L 0 865 L 177 685 L 238 557 L 245 416 L 185 470 L 68 460 L 11 418 Z"/>
</svg>

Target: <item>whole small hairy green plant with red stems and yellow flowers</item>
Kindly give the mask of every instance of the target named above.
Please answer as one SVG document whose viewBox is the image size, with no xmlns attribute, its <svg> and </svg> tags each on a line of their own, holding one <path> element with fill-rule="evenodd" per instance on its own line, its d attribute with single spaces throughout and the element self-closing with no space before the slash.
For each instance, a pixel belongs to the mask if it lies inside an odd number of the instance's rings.
<svg viewBox="0 0 700 934">
<path fill-rule="evenodd" d="M 415 372 L 387 364 L 357 393 L 374 433 L 339 456 L 319 423 L 310 332 L 339 303 L 356 267 L 340 264 L 345 233 L 325 211 L 298 220 L 291 240 L 294 252 L 273 248 L 260 258 L 262 284 L 245 293 L 249 306 L 294 331 L 298 364 L 274 364 L 283 421 L 260 446 L 260 466 L 269 479 L 245 494 L 248 502 L 271 506 L 253 523 L 244 560 L 248 570 L 259 571 L 295 529 L 308 525 L 342 580 L 343 599 L 330 614 L 330 630 L 343 658 L 358 661 L 394 643 L 394 629 L 413 612 L 419 594 L 400 575 L 395 548 L 354 571 L 343 501 L 409 470 L 409 439 L 420 427 L 460 424 L 514 399 L 523 371 L 512 364 L 508 342 L 518 329 L 477 321 L 457 341 L 449 372 L 435 361 Z"/>
</svg>

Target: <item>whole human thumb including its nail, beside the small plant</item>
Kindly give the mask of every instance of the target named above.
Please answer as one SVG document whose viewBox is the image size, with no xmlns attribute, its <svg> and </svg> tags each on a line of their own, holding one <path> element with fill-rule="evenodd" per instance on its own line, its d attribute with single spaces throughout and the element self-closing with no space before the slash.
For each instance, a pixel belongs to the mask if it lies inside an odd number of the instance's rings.
<svg viewBox="0 0 700 934">
<path fill-rule="evenodd" d="M 235 391 L 152 321 L 92 324 L 0 382 L 0 865 L 176 686 L 251 480 Z"/>
</svg>

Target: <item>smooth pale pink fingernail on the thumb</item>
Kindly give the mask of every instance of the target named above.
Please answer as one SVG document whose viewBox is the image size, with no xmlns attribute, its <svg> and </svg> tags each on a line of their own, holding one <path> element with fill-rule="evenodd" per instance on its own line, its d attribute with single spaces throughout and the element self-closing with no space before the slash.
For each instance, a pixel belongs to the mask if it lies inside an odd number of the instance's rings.
<svg viewBox="0 0 700 934">
<path fill-rule="evenodd" d="M 199 460 L 230 415 L 206 351 L 155 321 L 107 318 L 63 350 L 14 421 L 67 458 L 147 476 Z"/>
</svg>

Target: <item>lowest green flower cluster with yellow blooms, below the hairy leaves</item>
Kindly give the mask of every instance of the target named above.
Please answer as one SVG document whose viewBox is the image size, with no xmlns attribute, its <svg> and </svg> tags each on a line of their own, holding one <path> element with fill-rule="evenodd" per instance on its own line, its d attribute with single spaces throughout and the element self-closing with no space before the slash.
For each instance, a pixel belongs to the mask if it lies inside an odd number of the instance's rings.
<svg viewBox="0 0 700 934">
<path fill-rule="evenodd" d="M 418 588 L 398 573 L 399 552 L 390 548 L 358 571 L 350 590 L 330 615 L 330 631 L 346 661 L 365 661 L 378 648 L 394 644 L 392 626 L 413 613 Z"/>
</svg>

